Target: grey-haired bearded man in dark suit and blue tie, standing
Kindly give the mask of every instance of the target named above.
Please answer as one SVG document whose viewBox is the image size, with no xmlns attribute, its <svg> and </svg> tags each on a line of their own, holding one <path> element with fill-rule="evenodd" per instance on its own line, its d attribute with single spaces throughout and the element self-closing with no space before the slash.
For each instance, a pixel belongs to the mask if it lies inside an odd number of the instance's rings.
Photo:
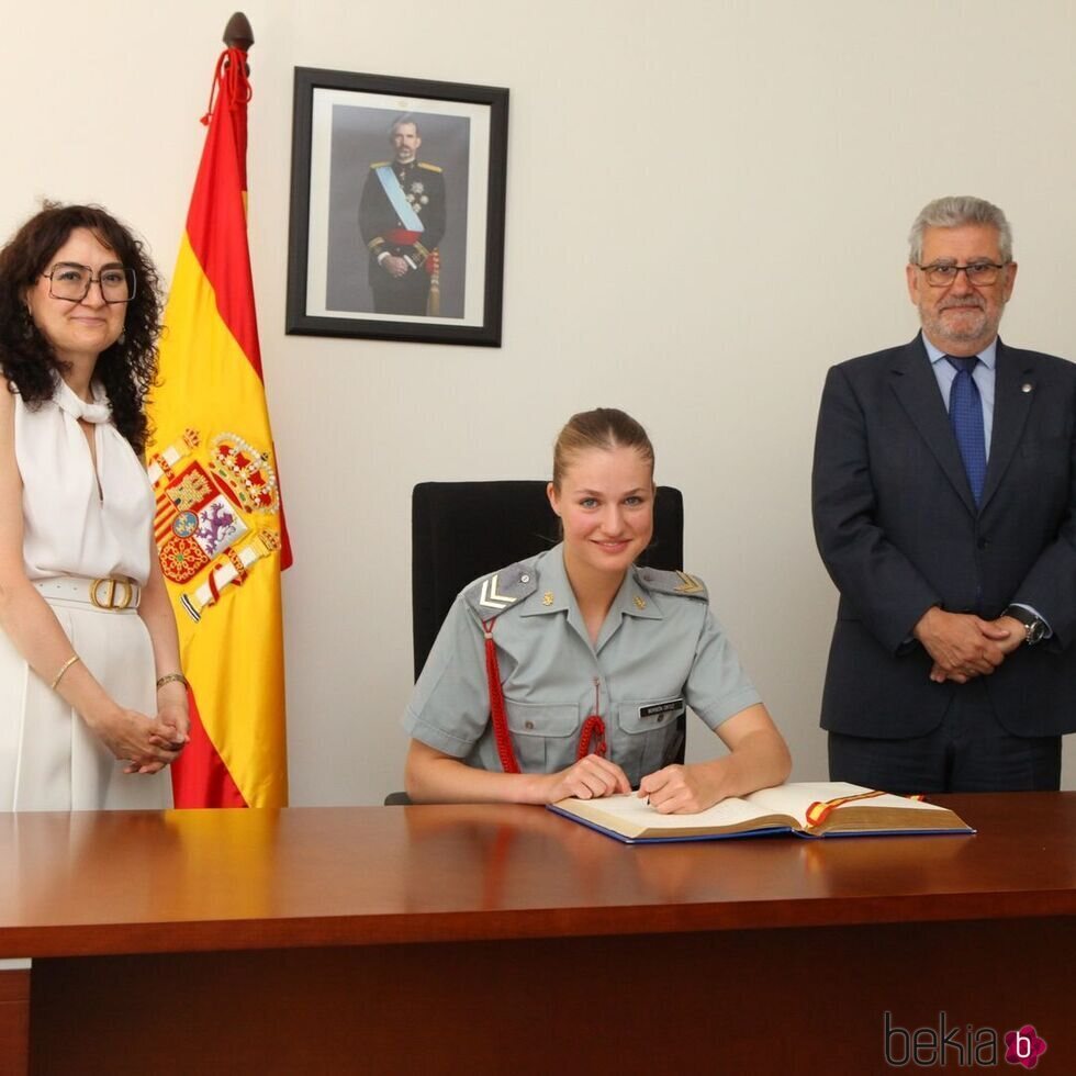
<svg viewBox="0 0 1076 1076">
<path fill-rule="evenodd" d="M 1057 788 L 1076 727 L 1076 366 L 1007 347 L 1005 214 L 943 198 L 910 235 L 910 344 L 833 367 L 812 508 L 840 591 L 830 776 Z"/>
</svg>

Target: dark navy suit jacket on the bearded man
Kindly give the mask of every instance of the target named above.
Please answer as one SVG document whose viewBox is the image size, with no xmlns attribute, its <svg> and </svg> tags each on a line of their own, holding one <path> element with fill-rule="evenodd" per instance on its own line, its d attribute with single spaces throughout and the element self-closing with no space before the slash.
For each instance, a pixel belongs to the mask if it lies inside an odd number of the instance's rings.
<svg viewBox="0 0 1076 1076">
<path fill-rule="evenodd" d="M 930 681 L 916 623 L 932 605 L 994 619 L 1016 602 L 1053 636 L 984 679 L 998 719 L 1019 736 L 1076 729 L 1076 366 L 998 341 L 978 508 L 920 337 L 833 367 L 811 504 L 840 591 L 823 728 L 929 732 L 967 688 Z"/>
</svg>

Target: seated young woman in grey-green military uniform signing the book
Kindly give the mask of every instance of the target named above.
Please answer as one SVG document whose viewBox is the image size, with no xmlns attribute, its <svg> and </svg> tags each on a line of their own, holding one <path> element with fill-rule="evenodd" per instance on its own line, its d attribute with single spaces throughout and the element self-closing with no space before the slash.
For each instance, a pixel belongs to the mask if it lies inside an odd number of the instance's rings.
<svg viewBox="0 0 1076 1076">
<path fill-rule="evenodd" d="M 662 812 L 781 784 L 784 739 L 695 576 L 637 568 L 653 447 L 621 411 L 574 415 L 548 494 L 564 540 L 456 599 L 407 711 L 417 803 L 545 804 L 638 787 Z M 729 749 L 677 765 L 690 706 Z"/>
</svg>

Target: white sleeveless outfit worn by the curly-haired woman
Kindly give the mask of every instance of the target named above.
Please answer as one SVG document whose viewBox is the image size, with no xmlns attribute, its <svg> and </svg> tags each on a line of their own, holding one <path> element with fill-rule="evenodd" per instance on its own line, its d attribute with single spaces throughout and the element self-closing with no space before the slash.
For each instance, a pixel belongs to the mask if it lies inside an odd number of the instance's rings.
<svg viewBox="0 0 1076 1076">
<path fill-rule="evenodd" d="M 0 391 L 7 385 L 0 384 Z M 18 394 L 15 460 L 23 482 L 23 560 L 32 580 L 149 578 L 154 495 L 131 446 L 111 423 L 104 391 L 87 404 L 64 381 L 30 410 Z M 97 472 L 78 419 L 94 424 Z M 122 706 L 156 714 L 149 632 L 134 609 L 48 604 L 82 659 Z M 123 763 L 34 673 L 0 630 L 0 810 L 101 810 L 171 806 L 171 772 L 125 774 Z"/>
</svg>

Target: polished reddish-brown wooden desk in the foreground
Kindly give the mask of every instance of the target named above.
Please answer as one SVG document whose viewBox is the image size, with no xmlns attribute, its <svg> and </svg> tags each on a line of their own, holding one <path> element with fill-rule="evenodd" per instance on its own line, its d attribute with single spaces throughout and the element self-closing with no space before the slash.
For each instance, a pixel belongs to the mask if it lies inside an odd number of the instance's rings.
<svg viewBox="0 0 1076 1076">
<path fill-rule="evenodd" d="M 0 957 L 34 957 L 42 1073 L 875 1073 L 884 1012 L 910 1031 L 942 1010 L 964 1038 L 1032 1023 L 1038 1071 L 1076 1071 L 1076 793 L 938 798 L 978 836 L 630 848 L 529 807 L 3 815 Z"/>
</svg>

